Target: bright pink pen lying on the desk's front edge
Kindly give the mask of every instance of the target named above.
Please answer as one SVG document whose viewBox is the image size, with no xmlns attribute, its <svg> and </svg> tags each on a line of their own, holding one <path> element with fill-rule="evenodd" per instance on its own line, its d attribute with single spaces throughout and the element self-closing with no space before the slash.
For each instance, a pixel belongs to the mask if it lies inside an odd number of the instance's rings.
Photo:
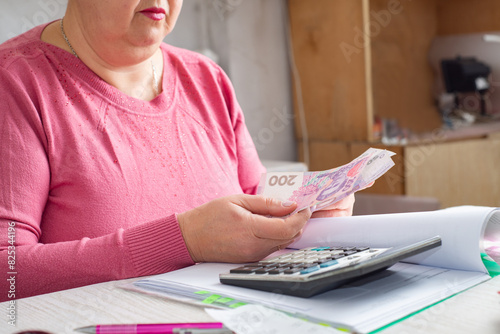
<svg viewBox="0 0 500 334">
<path fill-rule="evenodd" d="M 210 330 L 220 332 L 212 332 Z M 96 325 L 80 327 L 75 331 L 87 334 L 226 334 L 227 328 L 221 322 L 194 322 L 171 324 L 137 324 L 137 325 Z M 202 331 L 204 330 L 204 331 Z M 208 332 L 207 332 L 208 331 Z"/>
</svg>

